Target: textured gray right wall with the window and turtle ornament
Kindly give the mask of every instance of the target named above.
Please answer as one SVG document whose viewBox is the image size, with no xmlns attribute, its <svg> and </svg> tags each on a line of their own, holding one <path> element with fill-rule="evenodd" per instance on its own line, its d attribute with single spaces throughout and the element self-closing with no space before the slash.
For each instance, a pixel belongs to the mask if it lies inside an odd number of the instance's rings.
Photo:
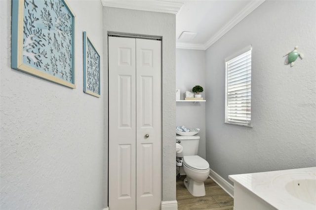
<svg viewBox="0 0 316 210">
<path fill-rule="evenodd" d="M 315 166 L 315 26 L 315 0 L 265 1 L 207 49 L 206 159 L 226 180 Z M 224 60 L 249 44 L 253 128 L 224 124 Z M 305 58 L 290 68 L 283 56 L 295 45 Z"/>
</svg>

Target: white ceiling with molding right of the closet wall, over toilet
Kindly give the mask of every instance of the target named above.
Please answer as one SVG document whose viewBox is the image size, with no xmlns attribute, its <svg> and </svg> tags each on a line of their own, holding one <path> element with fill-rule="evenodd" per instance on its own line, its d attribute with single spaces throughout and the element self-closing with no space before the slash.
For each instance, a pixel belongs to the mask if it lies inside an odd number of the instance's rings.
<svg viewBox="0 0 316 210">
<path fill-rule="evenodd" d="M 183 6 L 176 15 L 178 48 L 207 49 L 232 29 L 263 1 L 253 0 L 177 0 Z M 193 40 L 182 41 L 183 31 L 196 32 Z"/>
</svg>

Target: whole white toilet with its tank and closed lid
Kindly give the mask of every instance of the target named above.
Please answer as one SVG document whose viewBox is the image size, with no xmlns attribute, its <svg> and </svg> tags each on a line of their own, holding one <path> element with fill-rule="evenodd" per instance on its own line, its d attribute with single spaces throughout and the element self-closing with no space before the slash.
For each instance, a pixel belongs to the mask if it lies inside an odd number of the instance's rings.
<svg viewBox="0 0 316 210">
<path fill-rule="evenodd" d="M 176 142 L 181 144 L 183 151 L 177 157 L 183 158 L 183 169 L 187 177 L 184 185 L 193 196 L 204 196 L 204 181 L 209 175 L 209 164 L 197 155 L 199 136 L 176 136 Z"/>
</svg>

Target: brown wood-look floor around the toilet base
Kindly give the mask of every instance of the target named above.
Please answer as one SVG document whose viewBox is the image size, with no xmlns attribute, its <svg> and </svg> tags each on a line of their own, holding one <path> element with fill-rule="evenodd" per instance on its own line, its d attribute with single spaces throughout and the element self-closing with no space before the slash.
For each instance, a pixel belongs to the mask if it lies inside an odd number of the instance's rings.
<svg viewBox="0 0 316 210">
<path fill-rule="evenodd" d="M 205 196 L 194 197 L 183 184 L 185 177 L 177 177 L 178 210 L 233 210 L 234 199 L 213 179 L 207 178 L 204 182 Z"/>
</svg>

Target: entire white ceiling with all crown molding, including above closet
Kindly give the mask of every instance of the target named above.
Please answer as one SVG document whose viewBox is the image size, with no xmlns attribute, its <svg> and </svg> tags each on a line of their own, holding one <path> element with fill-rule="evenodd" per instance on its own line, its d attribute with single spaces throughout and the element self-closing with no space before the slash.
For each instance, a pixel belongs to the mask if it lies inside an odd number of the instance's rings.
<svg viewBox="0 0 316 210">
<path fill-rule="evenodd" d="M 264 0 L 101 0 L 104 6 L 176 14 L 176 46 L 205 50 Z M 179 39 L 194 32 L 192 40 Z M 192 34 L 192 33 L 191 33 Z"/>
</svg>

